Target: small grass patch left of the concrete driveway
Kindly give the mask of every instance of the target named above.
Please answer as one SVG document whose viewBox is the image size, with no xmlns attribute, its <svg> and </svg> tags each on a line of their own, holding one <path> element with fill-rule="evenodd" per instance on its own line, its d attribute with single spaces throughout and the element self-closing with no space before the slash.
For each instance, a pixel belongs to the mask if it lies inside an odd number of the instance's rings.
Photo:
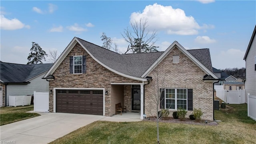
<svg viewBox="0 0 256 144">
<path fill-rule="evenodd" d="M 33 110 L 34 105 L 30 106 L 17 106 L 17 107 L 2 107 L 0 113 L 0 125 L 10 124 L 20 120 L 26 120 L 35 116 L 40 116 L 36 113 L 27 113 L 27 111 Z"/>
</svg>

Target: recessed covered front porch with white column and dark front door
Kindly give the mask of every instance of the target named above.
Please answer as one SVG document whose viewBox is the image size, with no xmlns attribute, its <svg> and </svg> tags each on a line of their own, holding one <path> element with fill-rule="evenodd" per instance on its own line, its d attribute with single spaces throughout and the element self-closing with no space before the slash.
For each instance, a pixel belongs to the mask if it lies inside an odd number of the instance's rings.
<svg viewBox="0 0 256 144">
<path fill-rule="evenodd" d="M 144 83 L 111 83 L 111 116 L 143 119 Z M 126 106 L 126 112 L 116 115 L 116 104 Z"/>
</svg>

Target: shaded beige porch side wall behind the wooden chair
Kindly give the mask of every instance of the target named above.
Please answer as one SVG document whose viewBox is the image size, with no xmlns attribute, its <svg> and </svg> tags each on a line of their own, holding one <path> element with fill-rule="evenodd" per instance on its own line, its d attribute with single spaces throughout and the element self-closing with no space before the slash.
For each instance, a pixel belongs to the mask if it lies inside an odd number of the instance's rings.
<svg viewBox="0 0 256 144">
<path fill-rule="evenodd" d="M 124 106 L 124 85 L 111 85 L 111 113 L 116 113 L 116 104 L 121 103 Z"/>
</svg>

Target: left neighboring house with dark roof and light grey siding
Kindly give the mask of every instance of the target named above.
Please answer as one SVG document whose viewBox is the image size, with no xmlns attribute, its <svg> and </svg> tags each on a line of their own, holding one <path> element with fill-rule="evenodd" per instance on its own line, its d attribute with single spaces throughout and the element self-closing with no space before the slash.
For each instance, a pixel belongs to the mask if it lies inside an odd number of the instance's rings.
<svg viewBox="0 0 256 144">
<path fill-rule="evenodd" d="M 42 77 L 53 64 L 13 64 L 0 62 L 1 106 L 9 105 L 9 96 L 49 92 L 49 82 Z"/>
</svg>

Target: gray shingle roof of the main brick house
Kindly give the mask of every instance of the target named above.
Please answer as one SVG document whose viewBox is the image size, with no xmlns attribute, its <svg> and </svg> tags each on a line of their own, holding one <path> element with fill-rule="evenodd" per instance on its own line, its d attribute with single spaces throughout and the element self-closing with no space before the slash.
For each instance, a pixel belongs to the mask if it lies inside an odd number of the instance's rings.
<svg viewBox="0 0 256 144">
<path fill-rule="evenodd" d="M 117 54 L 78 38 L 81 44 L 106 66 L 130 76 L 140 77 L 164 53 Z M 199 62 L 212 72 L 209 49 L 188 50 Z"/>
</svg>

